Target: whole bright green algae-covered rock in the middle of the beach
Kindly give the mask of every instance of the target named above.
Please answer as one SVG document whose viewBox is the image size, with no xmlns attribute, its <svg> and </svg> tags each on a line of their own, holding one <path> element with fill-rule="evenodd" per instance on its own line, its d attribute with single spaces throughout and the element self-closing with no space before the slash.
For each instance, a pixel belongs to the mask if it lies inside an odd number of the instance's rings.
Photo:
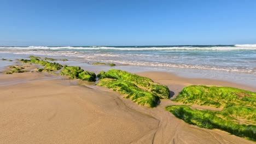
<svg viewBox="0 0 256 144">
<path fill-rule="evenodd" d="M 160 98 L 168 98 L 170 95 L 167 86 L 127 71 L 110 69 L 107 72 L 100 71 L 97 76 L 100 79 L 100 82 L 97 83 L 98 86 L 126 94 L 125 98 L 129 98 L 139 105 L 155 107 Z"/>
</svg>

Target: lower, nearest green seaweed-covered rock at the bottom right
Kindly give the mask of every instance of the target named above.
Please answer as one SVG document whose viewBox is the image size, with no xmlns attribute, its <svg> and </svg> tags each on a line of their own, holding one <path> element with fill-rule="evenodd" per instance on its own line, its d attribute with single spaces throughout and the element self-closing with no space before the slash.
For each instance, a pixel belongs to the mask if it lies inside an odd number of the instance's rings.
<svg viewBox="0 0 256 144">
<path fill-rule="evenodd" d="M 255 109 L 232 106 L 222 111 L 211 111 L 191 109 L 188 105 L 172 105 L 167 106 L 166 110 L 189 124 L 207 129 L 220 129 L 236 136 L 255 140 Z M 237 119 L 246 119 L 245 121 L 249 123 L 241 124 Z"/>
</svg>

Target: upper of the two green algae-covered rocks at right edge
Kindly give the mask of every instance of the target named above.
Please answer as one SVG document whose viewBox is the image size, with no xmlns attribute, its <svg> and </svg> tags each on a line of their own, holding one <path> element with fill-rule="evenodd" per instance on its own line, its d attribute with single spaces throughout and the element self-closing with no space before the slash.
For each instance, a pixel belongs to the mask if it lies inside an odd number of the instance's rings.
<svg viewBox="0 0 256 144">
<path fill-rule="evenodd" d="M 232 87 L 188 86 L 174 101 L 213 107 L 232 104 L 256 107 L 256 93 Z"/>
</svg>

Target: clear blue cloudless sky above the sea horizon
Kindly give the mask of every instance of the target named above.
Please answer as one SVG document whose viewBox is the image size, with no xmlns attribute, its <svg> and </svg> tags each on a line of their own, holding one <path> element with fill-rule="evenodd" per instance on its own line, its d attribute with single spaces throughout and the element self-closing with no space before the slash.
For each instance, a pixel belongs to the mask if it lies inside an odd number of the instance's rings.
<svg viewBox="0 0 256 144">
<path fill-rule="evenodd" d="M 207 44 L 256 44 L 256 1 L 0 3 L 0 45 Z"/>
</svg>

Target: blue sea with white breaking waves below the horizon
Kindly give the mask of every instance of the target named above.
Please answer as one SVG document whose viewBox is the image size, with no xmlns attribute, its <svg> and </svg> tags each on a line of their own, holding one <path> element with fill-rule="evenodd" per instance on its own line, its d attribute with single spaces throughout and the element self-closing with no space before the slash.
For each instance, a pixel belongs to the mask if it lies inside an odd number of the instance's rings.
<svg viewBox="0 0 256 144">
<path fill-rule="evenodd" d="M 2 53 L 66 56 L 153 68 L 188 68 L 256 74 L 256 45 L 29 46 L 0 47 Z"/>
</svg>

